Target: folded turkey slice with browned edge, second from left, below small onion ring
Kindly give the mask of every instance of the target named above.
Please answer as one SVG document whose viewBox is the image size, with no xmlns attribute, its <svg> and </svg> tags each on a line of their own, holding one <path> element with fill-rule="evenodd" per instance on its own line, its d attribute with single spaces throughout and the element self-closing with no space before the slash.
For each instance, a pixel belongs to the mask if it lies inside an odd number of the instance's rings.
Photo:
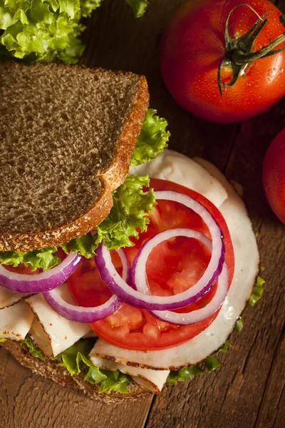
<svg viewBox="0 0 285 428">
<path fill-rule="evenodd" d="M 67 284 L 58 287 L 58 293 L 63 300 L 74 305 Z M 26 302 L 36 315 L 29 333 L 46 357 L 56 357 L 90 331 L 88 324 L 69 321 L 58 315 L 41 294 L 28 297 Z"/>
</svg>

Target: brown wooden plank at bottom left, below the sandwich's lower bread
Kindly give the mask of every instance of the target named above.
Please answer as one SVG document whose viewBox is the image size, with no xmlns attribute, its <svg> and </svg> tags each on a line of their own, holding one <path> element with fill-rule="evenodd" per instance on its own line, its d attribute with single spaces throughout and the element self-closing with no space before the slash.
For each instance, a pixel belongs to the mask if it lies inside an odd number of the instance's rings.
<svg viewBox="0 0 285 428">
<path fill-rule="evenodd" d="M 143 427 L 152 396 L 106 404 L 32 374 L 0 348 L 1 428 Z M 121 417 L 120 415 L 125 415 Z"/>
</svg>

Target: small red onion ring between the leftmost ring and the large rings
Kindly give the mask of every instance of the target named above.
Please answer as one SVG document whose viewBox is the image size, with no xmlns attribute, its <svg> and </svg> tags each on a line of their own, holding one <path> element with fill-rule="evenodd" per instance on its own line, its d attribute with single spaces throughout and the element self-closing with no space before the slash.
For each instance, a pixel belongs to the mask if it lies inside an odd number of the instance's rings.
<svg viewBox="0 0 285 428">
<path fill-rule="evenodd" d="M 120 260 L 123 265 L 123 280 L 128 281 L 130 278 L 130 264 L 128 263 L 128 258 L 122 249 L 116 251 L 120 256 Z M 71 305 L 58 295 L 58 290 L 44 292 L 43 297 L 46 299 L 48 305 L 50 305 L 58 315 L 61 315 L 61 317 L 66 318 L 66 320 L 83 323 L 103 320 L 103 318 L 113 315 L 113 313 L 122 305 L 122 302 L 115 295 L 110 297 L 108 302 L 96 307 Z"/>
</svg>

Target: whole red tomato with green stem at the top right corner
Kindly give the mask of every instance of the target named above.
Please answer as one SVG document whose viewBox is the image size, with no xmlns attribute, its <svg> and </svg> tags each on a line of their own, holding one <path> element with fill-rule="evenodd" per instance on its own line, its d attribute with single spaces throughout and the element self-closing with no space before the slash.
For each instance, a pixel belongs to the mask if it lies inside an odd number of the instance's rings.
<svg viewBox="0 0 285 428">
<path fill-rule="evenodd" d="M 208 121 L 243 121 L 266 110 L 285 93 L 285 51 L 281 51 L 243 66 L 236 83 L 224 89 L 221 96 L 218 68 L 226 55 L 231 61 L 233 58 L 233 52 L 227 54 L 225 49 L 224 26 L 229 12 L 239 3 L 241 0 L 187 1 L 162 37 L 161 70 L 167 88 L 177 103 Z M 266 0 L 246 0 L 246 3 L 259 16 L 271 9 L 250 49 L 257 52 L 284 33 L 279 19 L 281 11 Z M 232 11 L 229 36 L 234 42 L 251 29 L 257 14 L 243 5 Z M 284 46 L 283 42 L 278 49 Z M 222 81 L 229 83 L 232 76 L 232 63 L 225 64 Z"/>
</svg>

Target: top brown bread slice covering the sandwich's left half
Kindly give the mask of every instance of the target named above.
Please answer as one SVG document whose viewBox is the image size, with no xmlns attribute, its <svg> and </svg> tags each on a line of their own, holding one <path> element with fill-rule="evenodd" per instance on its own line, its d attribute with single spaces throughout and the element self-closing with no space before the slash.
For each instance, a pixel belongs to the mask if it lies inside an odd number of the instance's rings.
<svg viewBox="0 0 285 428">
<path fill-rule="evenodd" d="M 58 245 L 100 224 L 148 103 L 133 73 L 0 63 L 0 251 Z"/>
</svg>

